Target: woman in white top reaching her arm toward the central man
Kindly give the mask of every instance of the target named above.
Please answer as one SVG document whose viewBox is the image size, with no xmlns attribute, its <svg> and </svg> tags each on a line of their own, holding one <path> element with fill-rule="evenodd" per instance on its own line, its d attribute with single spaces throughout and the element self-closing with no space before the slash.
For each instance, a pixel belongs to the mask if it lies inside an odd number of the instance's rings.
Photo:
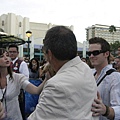
<svg viewBox="0 0 120 120">
<path fill-rule="evenodd" d="M 6 119 L 22 120 L 18 102 L 21 88 L 31 94 L 40 94 L 45 82 L 46 80 L 36 87 L 24 75 L 12 72 L 8 52 L 0 48 L 0 99 L 5 108 Z"/>
</svg>

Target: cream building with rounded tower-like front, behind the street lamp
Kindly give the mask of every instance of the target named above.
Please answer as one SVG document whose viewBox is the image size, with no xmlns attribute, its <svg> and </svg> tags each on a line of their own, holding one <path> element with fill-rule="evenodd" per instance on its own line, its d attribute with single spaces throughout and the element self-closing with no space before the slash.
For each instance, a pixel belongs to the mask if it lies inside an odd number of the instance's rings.
<svg viewBox="0 0 120 120">
<path fill-rule="evenodd" d="M 45 37 L 46 31 L 56 25 L 54 24 L 45 24 L 45 23 L 35 23 L 30 22 L 29 18 L 16 15 L 14 13 L 3 14 L 0 16 L 0 28 L 2 28 L 6 33 L 10 35 L 15 35 L 24 40 L 28 40 L 26 36 L 26 31 L 31 31 L 32 36 L 30 37 L 30 59 L 37 57 L 38 59 L 43 59 L 42 45 L 43 38 Z M 66 26 L 72 31 L 74 27 Z M 27 57 L 27 47 L 28 44 L 19 46 L 20 57 Z M 83 45 L 78 43 L 78 51 L 82 51 Z"/>
</svg>

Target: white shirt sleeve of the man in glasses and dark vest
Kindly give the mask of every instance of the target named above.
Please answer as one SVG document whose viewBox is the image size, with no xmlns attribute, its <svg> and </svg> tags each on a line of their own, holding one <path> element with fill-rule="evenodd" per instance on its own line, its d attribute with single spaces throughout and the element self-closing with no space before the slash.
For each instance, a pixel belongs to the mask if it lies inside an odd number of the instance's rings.
<svg viewBox="0 0 120 120">
<path fill-rule="evenodd" d="M 20 73 L 24 74 L 26 77 L 29 78 L 28 66 L 27 66 L 27 63 L 25 63 L 24 61 L 22 61 L 22 63 L 20 64 L 19 71 Z"/>
</svg>

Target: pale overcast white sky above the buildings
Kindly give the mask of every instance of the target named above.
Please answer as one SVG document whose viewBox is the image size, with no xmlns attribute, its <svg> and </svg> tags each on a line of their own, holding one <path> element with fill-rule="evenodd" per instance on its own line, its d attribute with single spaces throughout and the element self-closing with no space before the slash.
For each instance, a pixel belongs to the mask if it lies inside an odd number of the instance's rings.
<svg viewBox="0 0 120 120">
<path fill-rule="evenodd" d="M 86 40 L 86 28 L 120 27 L 120 0 L 1 0 L 0 15 L 14 13 L 30 22 L 74 26 L 77 41 Z"/>
</svg>

